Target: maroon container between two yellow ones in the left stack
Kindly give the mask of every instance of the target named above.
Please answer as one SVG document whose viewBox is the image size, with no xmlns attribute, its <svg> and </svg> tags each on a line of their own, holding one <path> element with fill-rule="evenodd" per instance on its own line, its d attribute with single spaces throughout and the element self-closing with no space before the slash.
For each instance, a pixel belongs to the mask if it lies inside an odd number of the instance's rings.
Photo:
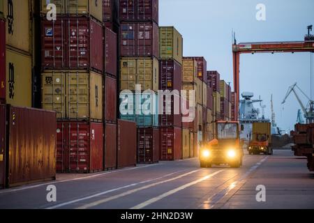
<svg viewBox="0 0 314 223">
<path fill-rule="evenodd" d="M 43 69 L 92 69 L 103 73 L 103 26 L 91 17 L 42 20 Z"/>
</svg>

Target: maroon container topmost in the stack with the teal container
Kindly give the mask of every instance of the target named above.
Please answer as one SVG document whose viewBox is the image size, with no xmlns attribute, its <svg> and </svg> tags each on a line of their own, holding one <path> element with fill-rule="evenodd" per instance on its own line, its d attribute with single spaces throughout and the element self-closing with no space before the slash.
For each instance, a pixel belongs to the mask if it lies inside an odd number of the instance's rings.
<svg viewBox="0 0 314 223">
<path fill-rule="evenodd" d="M 121 21 L 154 21 L 158 23 L 158 0 L 120 0 Z"/>
</svg>

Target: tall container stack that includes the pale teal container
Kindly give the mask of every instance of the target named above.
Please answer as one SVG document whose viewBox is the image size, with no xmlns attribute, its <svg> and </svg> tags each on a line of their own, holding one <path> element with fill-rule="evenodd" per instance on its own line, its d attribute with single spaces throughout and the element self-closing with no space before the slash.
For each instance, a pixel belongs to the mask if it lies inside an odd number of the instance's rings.
<svg viewBox="0 0 314 223">
<path fill-rule="evenodd" d="M 133 93 L 121 100 L 133 105 L 128 107 L 133 114 L 120 117 L 137 124 L 137 162 L 158 162 L 158 0 L 120 0 L 119 19 L 119 91 Z M 141 88 L 135 94 L 138 84 Z M 147 99 L 148 113 L 141 106 Z"/>
</svg>

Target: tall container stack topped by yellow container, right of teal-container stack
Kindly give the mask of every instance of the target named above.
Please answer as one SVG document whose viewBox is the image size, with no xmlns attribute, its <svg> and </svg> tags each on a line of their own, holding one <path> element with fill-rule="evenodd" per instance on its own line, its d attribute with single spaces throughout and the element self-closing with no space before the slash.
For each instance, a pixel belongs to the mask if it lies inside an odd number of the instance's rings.
<svg viewBox="0 0 314 223">
<path fill-rule="evenodd" d="M 190 137 L 190 132 L 182 131 L 182 115 L 180 92 L 182 88 L 182 57 L 183 38 L 173 26 L 159 28 L 160 61 L 159 61 L 159 90 L 173 93 L 171 98 L 159 98 L 163 105 L 163 114 L 159 115 L 160 123 L 160 160 L 179 160 L 182 154 L 182 139 Z M 166 109 L 171 114 L 167 114 Z M 184 136 L 182 134 L 185 134 Z M 185 139 L 185 138 L 184 138 Z M 184 141 L 185 147 L 190 141 Z"/>
</svg>

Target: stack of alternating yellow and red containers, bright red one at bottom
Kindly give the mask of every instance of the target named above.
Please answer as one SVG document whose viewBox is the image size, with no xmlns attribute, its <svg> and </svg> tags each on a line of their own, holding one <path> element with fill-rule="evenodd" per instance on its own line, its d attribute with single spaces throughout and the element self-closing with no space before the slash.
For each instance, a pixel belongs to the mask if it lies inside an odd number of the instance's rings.
<svg viewBox="0 0 314 223">
<path fill-rule="evenodd" d="M 57 171 L 102 171 L 103 3 L 40 2 L 42 107 L 57 112 Z M 47 20 L 47 3 L 57 20 Z"/>
</svg>

